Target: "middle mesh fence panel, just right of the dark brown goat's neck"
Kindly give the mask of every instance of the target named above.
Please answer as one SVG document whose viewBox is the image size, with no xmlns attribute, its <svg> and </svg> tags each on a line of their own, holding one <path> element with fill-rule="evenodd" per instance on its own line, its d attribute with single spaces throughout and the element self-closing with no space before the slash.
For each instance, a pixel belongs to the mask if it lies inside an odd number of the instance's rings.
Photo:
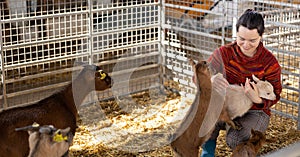
<svg viewBox="0 0 300 157">
<path fill-rule="evenodd" d="M 92 8 L 92 58 L 114 77 L 114 96 L 159 87 L 159 9 L 155 1 Z"/>
</svg>

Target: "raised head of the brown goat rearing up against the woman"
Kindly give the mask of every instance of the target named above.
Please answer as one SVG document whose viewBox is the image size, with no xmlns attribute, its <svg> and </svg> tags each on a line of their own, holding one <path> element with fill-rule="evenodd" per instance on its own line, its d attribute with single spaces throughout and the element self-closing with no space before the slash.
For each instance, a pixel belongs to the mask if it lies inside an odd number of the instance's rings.
<svg viewBox="0 0 300 157">
<path fill-rule="evenodd" d="M 193 67 L 193 81 L 195 84 L 200 85 L 207 83 L 207 81 L 210 81 L 211 74 L 208 68 L 208 63 L 205 60 L 201 60 L 198 61 L 198 63 L 195 63 L 194 60 L 189 59 L 189 63 Z"/>
</svg>

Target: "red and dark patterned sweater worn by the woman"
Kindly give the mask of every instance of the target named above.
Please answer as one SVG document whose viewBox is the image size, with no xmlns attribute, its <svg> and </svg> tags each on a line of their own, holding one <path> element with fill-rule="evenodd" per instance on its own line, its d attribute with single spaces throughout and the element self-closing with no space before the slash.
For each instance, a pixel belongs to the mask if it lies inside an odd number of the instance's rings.
<svg viewBox="0 0 300 157">
<path fill-rule="evenodd" d="M 254 74 L 260 80 L 269 81 L 274 87 L 276 100 L 263 99 L 263 104 L 253 104 L 252 110 L 263 110 L 271 115 L 270 107 L 280 99 L 282 90 L 281 68 L 275 56 L 260 43 L 253 57 L 244 55 L 236 42 L 215 50 L 208 59 L 214 73 L 220 72 L 230 84 L 245 84 Z"/>
</svg>

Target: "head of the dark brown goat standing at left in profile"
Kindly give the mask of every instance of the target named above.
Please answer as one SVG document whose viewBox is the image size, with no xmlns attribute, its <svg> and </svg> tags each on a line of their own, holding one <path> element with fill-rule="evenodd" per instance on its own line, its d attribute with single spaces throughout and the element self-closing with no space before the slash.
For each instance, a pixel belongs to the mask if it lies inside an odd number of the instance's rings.
<svg viewBox="0 0 300 157">
<path fill-rule="evenodd" d="M 95 83 L 95 89 L 97 91 L 105 90 L 112 87 L 112 78 L 99 66 L 95 65 L 85 65 L 81 74 L 85 77 L 87 84 Z M 79 76 L 82 77 L 82 76 Z"/>
</svg>

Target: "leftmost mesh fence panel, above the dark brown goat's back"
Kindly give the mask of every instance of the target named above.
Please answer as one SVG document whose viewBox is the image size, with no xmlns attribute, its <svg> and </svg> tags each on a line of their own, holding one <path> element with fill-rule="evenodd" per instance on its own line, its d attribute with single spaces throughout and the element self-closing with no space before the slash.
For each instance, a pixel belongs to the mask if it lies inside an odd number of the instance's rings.
<svg viewBox="0 0 300 157">
<path fill-rule="evenodd" d="M 37 101 L 68 83 L 74 59 L 87 51 L 87 17 L 85 1 L 1 1 L 4 106 Z"/>
</svg>

